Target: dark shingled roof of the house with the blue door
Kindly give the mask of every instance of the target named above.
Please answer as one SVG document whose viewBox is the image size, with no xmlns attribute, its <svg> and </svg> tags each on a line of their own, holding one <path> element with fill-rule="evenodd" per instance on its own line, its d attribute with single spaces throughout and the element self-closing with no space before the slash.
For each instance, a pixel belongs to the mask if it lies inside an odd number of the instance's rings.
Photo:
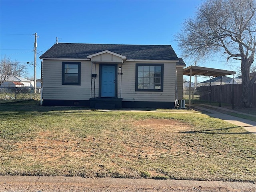
<svg viewBox="0 0 256 192">
<path fill-rule="evenodd" d="M 138 60 L 179 60 L 170 45 L 119 45 L 119 44 L 81 44 L 58 43 L 54 44 L 40 58 L 78 58 L 85 59 L 101 51 L 126 56 L 127 59 Z M 183 62 L 184 63 L 184 62 Z M 183 63 L 181 65 L 183 65 Z M 180 65 L 178 63 L 178 65 Z"/>
</svg>

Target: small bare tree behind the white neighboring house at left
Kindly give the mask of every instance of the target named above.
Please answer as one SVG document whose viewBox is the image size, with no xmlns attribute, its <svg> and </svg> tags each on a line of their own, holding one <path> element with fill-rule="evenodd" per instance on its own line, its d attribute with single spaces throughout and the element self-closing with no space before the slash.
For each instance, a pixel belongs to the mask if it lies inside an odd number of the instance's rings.
<svg viewBox="0 0 256 192">
<path fill-rule="evenodd" d="M 26 64 L 20 64 L 16 60 L 11 60 L 9 56 L 4 55 L 0 62 L 0 85 L 11 75 L 25 76 L 27 74 Z"/>
</svg>

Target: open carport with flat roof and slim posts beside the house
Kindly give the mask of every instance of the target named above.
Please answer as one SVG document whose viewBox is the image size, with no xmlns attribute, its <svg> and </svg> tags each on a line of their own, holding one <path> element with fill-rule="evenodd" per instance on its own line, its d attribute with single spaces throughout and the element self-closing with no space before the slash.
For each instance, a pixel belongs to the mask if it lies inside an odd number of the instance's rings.
<svg viewBox="0 0 256 192">
<path fill-rule="evenodd" d="M 233 85 L 234 85 L 234 75 L 236 74 L 235 71 L 228 71 L 228 70 L 222 70 L 222 69 L 214 69 L 214 68 L 207 68 L 207 67 L 200 67 L 200 66 L 189 66 L 184 69 L 183 75 L 190 76 L 189 80 L 189 98 L 188 98 L 188 108 L 191 107 L 191 77 L 200 75 L 200 76 L 208 76 L 210 78 L 212 77 L 220 77 L 220 85 L 222 83 L 222 76 L 226 75 L 233 75 Z M 234 88 L 234 86 L 233 86 Z M 221 103 L 221 86 L 220 86 L 220 103 Z M 232 91 L 232 98 L 234 98 L 234 90 Z M 232 108 L 234 108 L 234 103 L 232 100 Z"/>
</svg>

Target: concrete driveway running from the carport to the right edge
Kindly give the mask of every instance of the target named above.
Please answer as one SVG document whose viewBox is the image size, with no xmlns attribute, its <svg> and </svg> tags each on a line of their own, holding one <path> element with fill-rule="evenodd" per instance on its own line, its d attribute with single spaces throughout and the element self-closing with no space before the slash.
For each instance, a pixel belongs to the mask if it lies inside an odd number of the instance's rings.
<svg viewBox="0 0 256 192">
<path fill-rule="evenodd" d="M 229 111 L 229 112 L 245 114 L 245 113 L 237 112 L 237 111 L 234 111 L 234 110 L 229 110 L 229 109 L 226 109 L 226 108 L 223 108 L 223 107 L 215 107 L 215 106 L 208 106 L 208 105 L 205 105 L 205 106 L 210 107 L 210 108 L 225 110 L 225 111 Z M 247 120 L 247 119 L 238 118 L 238 117 L 235 117 L 235 116 L 231 116 L 231 115 L 227 115 L 227 114 L 218 112 L 214 109 L 208 109 L 208 108 L 204 108 L 204 107 L 200 107 L 200 106 L 192 106 L 192 108 L 198 109 L 200 111 L 210 112 L 207 115 L 209 115 L 211 117 L 218 118 L 218 119 L 222 119 L 226 122 L 232 123 L 232 124 L 237 125 L 237 126 L 241 126 L 246 131 L 251 132 L 252 134 L 256 135 L 256 121 L 250 121 L 250 120 Z M 249 115 L 249 114 L 246 114 L 246 115 Z M 249 116 L 254 116 L 254 115 L 249 115 Z M 256 116 L 255 116 L 255 119 L 256 119 Z"/>
</svg>

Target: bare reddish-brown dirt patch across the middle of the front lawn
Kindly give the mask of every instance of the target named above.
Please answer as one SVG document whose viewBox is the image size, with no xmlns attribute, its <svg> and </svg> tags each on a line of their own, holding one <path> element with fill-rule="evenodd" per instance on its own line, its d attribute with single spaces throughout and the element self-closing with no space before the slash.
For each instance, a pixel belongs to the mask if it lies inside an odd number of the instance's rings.
<svg viewBox="0 0 256 192">
<path fill-rule="evenodd" d="M 145 132 L 145 129 L 147 130 Z M 123 153 L 111 154 L 110 158 L 121 158 L 123 160 L 137 159 L 138 153 L 142 153 L 142 157 L 156 159 L 162 153 L 168 151 L 176 152 L 178 147 L 175 147 L 174 142 L 164 139 L 164 135 L 180 134 L 187 131 L 189 126 L 181 124 L 176 120 L 168 119 L 146 119 L 134 122 L 134 131 L 138 133 L 129 138 L 132 145 L 124 146 L 130 156 Z M 105 132 L 107 134 L 107 132 Z M 118 133 L 121 138 L 125 137 L 124 132 Z M 152 140 L 154 135 L 154 141 Z M 156 146 L 155 141 L 159 144 Z M 122 145 L 122 142 L 120 143 Z M 165 148 L 172 145 L 172 149 Z M 29 156 L 37 157 L 40 161 L 54 162 L 56 160 L 68 158 L 84 158 L 94 155 L 97 145 L 100 145 L 102 152 L 111 151 L 111 146 L 116 145 L 113 138 L 102 136 L 99 138 L 88 135 L 86 138 L 73 138 L 67 130 L 51 131 L 45 130 L 38 132 L 33 140 L 25 140 L 17 143 L 18 151 L 16 153 L 28 154 Z"/>
</svg>

